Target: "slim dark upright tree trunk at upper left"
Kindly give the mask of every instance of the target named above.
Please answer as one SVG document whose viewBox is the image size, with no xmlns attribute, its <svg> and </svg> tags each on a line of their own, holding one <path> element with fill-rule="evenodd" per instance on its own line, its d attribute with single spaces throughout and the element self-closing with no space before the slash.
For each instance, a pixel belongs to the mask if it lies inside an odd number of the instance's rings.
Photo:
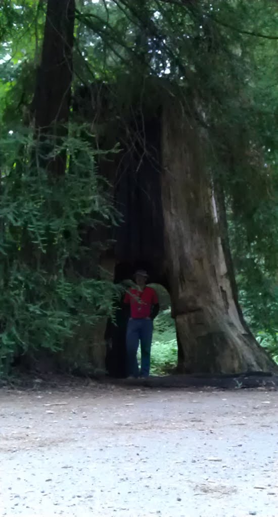
<svg viewBox="0 0 278 517">
<path fill-rule="evenodd" d="M 74 23 L 75 0 L 48 0 L 32 108 L 39 143 L 39 164 L 56 176 L 65 172 L 66 153 L 58 153 L 53 159 L 49 159 L 49 153 L 67 135 Z"/>
</svg>

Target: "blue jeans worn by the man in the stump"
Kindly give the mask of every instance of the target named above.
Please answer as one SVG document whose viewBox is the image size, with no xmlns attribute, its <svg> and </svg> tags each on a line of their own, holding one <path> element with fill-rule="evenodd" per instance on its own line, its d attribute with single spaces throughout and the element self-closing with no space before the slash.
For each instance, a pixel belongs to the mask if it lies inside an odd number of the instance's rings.
<svg viewBox="0 0 278 517">
<path fill-rule="evenodd" d="M 151 346 L 153 337 L 152 320 L 129 320 L 126 332 L 127 374 L 139 376 L 137 351 L 141 343 L 141 375 L 148 377 L 151 364 Z"/>
</svg>

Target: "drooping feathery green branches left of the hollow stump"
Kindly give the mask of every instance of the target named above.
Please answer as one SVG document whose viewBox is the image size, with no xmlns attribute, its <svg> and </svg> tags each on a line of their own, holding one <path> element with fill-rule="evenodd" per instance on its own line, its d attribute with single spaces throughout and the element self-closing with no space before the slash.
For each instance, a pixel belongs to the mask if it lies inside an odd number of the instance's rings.
<svg viewBox="0 0 278 517">
<path fill-rule="evenodd" d="M 94 151 L 75 128 L 47 157 L 61 148 L 70 157 L 55 180 L 37 165 L 32 133 L 19 130 L 1 144 L 0 360 L 7 366 L 15 354 L 57 351 L 72 337 L 78 346 L 82 325 L 111 313 L 118 290 L 99 278 L 94 235 L 117 215 Z"/>
</svg>

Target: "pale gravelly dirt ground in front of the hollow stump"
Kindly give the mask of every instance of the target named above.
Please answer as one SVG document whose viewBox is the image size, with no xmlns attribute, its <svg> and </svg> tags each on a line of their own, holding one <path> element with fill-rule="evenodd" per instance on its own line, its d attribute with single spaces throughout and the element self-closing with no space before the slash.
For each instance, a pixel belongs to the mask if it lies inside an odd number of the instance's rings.
<svg viewBox="0 0 278 517">
<path fill-rule="evenodd" d="M 278 394 L 0 391 L 2 516 L 277 517 Z"/>
</svg>

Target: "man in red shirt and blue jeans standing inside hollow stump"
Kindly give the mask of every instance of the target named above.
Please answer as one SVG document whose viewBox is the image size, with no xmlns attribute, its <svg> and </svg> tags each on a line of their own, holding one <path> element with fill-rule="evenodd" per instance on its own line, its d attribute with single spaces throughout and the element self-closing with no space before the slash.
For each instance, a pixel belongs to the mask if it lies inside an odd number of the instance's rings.
<svg viewBox="0 0 278 517">
<path fill-rule="evenodd" d="M 130 307 L 130 318 L 126 332 L 127 373 L 138 377 L 139 368 L 137 351 L 141 344 L 141 376 L 150 374 L 151 346 L 153 337 L 153 320 L 159 312 L 157 294 L 146 285 L 148 273 L 142 269 L 136 271 L 136 287 L 126 293 L 124 303 Z"/>
</svg>

